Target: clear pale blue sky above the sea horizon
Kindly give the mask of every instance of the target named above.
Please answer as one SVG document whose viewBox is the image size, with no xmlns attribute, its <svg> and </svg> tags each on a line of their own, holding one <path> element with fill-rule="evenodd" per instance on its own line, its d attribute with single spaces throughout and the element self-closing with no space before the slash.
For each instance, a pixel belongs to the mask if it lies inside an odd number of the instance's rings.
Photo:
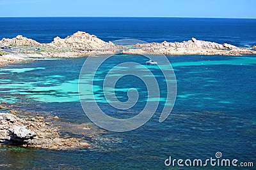
<svg viewBox="0 0 256 170">
<path fill-rule="evenodd" d="M 256 18 L 255 0 L 0 0 L 0 17 Z"/>
</svg>

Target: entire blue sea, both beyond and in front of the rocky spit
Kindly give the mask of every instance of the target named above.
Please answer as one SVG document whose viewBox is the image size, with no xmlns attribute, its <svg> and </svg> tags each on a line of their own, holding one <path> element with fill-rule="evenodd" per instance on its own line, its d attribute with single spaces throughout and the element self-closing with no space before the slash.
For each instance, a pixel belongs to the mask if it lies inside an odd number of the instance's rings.
<svg viewBox="0 0 256 170">
<path fill-rule="evenodd" d="M 104 41 L 140 39 L 148 42 L 187 41 L 192 37 L 217 43 L 256 45 L 255 19 L 227 18 L 0 18 L 0 38 L 22 34 L 40 43 L 76 31 L 95 34 Z M 242 167 L 179 167 L 164 160 L 223 159 L 253 162 L 256 166 L 256 56 L 167 56 L 177 80 L 177 99 L 170 116 L 159 123 L 164 99 L 156 114 L 139 129 L 110 132 L 86 117 L 77 82 L 86 57 L 45 59 L 0 67 L 0 101 L 20 110 L 57 115 L 63 132 L 86 138 L 89 150 L 41 150 L 0 146 L 0 169 L 244 169 Z M 102 99 L 100 80 L 106 70 L 122 62 L 144 64 L 142 55 L 117 54 L 99 68 L 95 92 L 99 105 L 116 118 L 134 117 L 143 107 L 147 87 L 132 76 L 116 83 L 116 96 L 127 100 L 127 89 L 139 89 L 140 102 L 129 110 L 115 110 Z M 166 96 L 163 74 L 147 66 Z M 92 131 L 82 134 L 81 126 Z M 89 136 L 93 136 L 90 138 Z"/>
</svg>

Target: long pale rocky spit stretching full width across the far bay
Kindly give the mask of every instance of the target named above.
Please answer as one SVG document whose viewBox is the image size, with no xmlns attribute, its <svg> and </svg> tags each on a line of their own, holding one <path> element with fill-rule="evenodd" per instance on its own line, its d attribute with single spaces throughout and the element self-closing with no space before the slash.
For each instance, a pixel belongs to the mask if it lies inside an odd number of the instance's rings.
<svg viewBox="0 0 256 170">
<path fill-rule="evenodd" d="M 223 45 L 202 41 L 192 38 L 183 42 L 145 43 L 133 45 L 135 48 L 115 45 L 113 42 L 105 42 L 97 36 L 86 32 L 78 31 L 67 38 L 56 37 L 51 43 L 38 43 L 33 39 L 18 35 L 15 38 L 3 38 L 0 41 L 2 46 L 9 46 L 19 50 L 12 53 L 4 52 L 0 56 L 0 65 L 3 63 L 16 62 L 22 60 L 24 56 L 30 58 L 49 57 L 82 57 L 86 55 L 104 55 L 114 53 L 127 54 L 164 54 L 164 55 L 243 55 L 255 54 L 256 46 L 252 50 L 239 48 L 234 45 L 224 43 Z M 35 50 L 40 48 L 40 50 Z"/>
</svg>

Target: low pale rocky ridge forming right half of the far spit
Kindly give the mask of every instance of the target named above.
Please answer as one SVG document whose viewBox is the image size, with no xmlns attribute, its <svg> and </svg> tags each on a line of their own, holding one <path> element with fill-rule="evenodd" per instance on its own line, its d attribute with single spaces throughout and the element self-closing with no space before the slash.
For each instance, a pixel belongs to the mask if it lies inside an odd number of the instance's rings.
<svg viewBox="0 0 256 170">
<path fill-rule="evenodd" d="M 223 45 L 202 41 L 192 38 L 189 41 L 181 43 L 146 43 L 134 45 L 138 49 L 125 50 L 125 53 L 140 53 L 165 54 L 165 55 L 241 55 L 244 53 L 255 53 L 253 50 L 246 48 L 238 48 L 237 46 L 224 43 Z"/>
</svg>

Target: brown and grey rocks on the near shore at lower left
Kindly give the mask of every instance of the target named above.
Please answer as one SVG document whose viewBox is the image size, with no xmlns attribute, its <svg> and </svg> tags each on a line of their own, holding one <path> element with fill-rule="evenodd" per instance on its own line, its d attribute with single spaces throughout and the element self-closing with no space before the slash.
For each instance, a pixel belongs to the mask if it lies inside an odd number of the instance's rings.
<svg viewBox="0 0 256 170">
<path fill-rule="evenodd" d="M 5 113 L 0 112 L 0 144 L 52 150 L 90 148 L 83 138 L 61 136 L 60 127 L 54 126 L 49 118 L 40 115 L 19 118 L 19 111 L 8 108 L 4 102 L 0 110 L 5 110 Z"/>
</svg>

